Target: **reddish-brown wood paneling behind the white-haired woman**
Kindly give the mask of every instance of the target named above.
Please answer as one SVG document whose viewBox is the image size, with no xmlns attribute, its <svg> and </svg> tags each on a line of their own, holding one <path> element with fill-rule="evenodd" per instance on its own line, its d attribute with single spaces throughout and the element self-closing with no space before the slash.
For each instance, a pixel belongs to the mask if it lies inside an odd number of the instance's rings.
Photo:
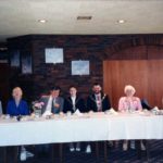
<svg viewBox="0 0 163 163">
<path fill-rule="evenodd" d="M 151 105 L 162 106 L 163 60 L 125 60 L 103 62 L 103 87 L 112 105 L 117 108 L 125 85 L 136 88 L 136 96 L 146 98 Z"/>
</svg>

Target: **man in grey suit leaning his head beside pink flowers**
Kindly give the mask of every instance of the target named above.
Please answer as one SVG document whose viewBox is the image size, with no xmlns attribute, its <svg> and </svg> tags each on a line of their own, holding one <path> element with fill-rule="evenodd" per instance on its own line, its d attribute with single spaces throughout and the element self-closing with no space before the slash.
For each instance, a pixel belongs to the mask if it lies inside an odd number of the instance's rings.
<svg viewBox="0 0 163 163">
<path fill-rule="evenodd" d="M 43 102 L 41 108 L 41 114 L 46 114 L 46 112 L 51 112 L 53 114 L 59 114 L 63 111 L 64 99 L 60 97 L 60 87 L 52 87 L 50 90 L 50 96 L 42 96 L 39 100 Z"/>
</svg>

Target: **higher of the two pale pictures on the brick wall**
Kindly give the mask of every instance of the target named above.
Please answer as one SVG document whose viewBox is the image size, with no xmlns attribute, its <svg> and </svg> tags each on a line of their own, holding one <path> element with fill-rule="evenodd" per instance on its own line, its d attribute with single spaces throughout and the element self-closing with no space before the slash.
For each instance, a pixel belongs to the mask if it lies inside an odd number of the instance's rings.
<svg viewBox="0 0 163 163">
<path fill-rule="evenodd" d="M 46 63 L 63 63 L 63 48 L 46 48 Z"/>
</svg>

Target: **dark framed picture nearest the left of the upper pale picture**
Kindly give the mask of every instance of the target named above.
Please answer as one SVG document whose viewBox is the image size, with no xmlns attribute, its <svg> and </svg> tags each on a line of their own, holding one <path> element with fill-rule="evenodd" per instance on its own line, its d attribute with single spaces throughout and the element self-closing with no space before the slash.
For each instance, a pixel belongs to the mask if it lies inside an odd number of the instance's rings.
<svg viewBox="0 0 163 163">
<path fill-rule="evenodd" d="M 32 74 L 32 55 L 22 55 L 22 74 Z"/>
</svg>

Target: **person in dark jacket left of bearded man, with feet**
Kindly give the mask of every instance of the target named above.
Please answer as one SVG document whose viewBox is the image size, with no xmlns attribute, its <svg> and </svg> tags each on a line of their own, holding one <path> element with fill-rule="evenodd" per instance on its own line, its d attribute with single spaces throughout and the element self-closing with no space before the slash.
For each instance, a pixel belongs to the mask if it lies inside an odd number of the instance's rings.
<svg viewBox="0 0 163 163">
<path fill-rule="evenodd" d="M 77 95 L 77 89 L 75 86 L 70 87 L 70 96 L 65 99 L 64 102 L 64 113 L 71 112 L 74 113 L 76 110 L 79 112 L 85 112 L 86 105 L 83 98 Z M 75 150 L 74 143 L 70 143 L 70 151 Z M 76 151 L 80 151 L 80 143 L 76 143 Z"/>
</svg>

